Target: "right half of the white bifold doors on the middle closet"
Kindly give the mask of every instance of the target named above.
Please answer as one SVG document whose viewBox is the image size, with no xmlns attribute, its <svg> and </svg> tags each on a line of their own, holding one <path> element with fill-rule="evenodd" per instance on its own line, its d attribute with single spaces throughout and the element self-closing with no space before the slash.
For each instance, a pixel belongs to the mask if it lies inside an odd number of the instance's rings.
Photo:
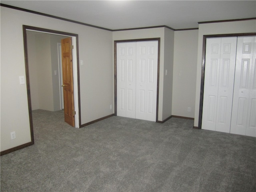
<svg viewBox="0 0 256 192">
<path fill-rule="evenodd" d="M 158 41 L 136 44 L 136 118 L 156 121 Z"/>
</svg>

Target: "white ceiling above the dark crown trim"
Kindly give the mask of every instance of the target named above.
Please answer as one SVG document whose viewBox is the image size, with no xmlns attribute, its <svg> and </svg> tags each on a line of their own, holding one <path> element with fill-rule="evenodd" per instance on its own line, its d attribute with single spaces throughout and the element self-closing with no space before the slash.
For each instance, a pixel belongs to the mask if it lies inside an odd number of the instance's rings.
<svg viewBox="0 0 256 192">
<path fill-rule="evenodd" d="M 1 0 L 7 4 L 110 30 L 166 25 L 198 28 L 198 22 L 256 18 L 256 1 L 247 0 Z"/>
</svg>

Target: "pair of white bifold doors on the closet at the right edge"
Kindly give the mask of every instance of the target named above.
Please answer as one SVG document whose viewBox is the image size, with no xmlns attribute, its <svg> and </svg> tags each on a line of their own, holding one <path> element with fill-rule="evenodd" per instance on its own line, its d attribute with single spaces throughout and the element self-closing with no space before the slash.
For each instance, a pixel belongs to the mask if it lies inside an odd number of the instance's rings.
<svg viewBox="0 0 256 192">
<path fill-rule="evenodd" d="M 256 137 L 256 37 L 206 40 L 202 129 Z"/>
</svg>

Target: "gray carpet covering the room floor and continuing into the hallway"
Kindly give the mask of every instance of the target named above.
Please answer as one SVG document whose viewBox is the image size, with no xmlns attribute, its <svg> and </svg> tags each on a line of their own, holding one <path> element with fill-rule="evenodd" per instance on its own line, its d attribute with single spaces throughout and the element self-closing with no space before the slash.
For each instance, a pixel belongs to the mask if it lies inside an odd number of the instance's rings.
<svg viewBox="0 0 256 192">
<path fill-rule="evenodd" d="M 255 192 L 256 138 L 113 116 L 84 128 L 33 111 L 35 144 L 1 156 L 1 192 Z"/>
</svg>

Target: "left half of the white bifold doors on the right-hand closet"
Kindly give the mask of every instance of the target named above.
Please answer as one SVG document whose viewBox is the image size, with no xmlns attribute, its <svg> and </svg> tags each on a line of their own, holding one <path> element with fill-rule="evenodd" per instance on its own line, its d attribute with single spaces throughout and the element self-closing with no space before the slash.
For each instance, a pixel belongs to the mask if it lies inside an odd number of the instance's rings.
<svg viewBox="0 0 256 192">
<path fill-rule="evenodd" d="M 202 129 L 230 132 L 236 40 L 206 39 Z"/>
</svg>

